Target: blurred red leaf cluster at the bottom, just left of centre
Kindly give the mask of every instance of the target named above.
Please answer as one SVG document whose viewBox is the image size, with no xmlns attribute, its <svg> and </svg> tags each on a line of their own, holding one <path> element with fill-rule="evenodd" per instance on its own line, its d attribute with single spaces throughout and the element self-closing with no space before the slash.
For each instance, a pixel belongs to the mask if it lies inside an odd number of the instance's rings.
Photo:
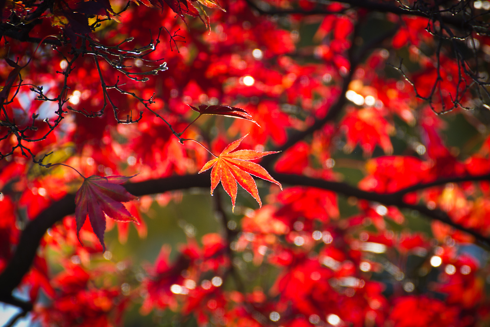
<svg viewBox="0 0 490 327">
<path fill-rule="evenodd" d="M 219 315 L 217 308 L 222 310 L 226 303 L 220 286 L 230 265 L 226 243 L 212 233 L 203 236 L 202 244 L 199 248 L 190 241 L 173 263 L 169 260 L 170 248 L 162 247 L 155 266 L 147 267 L 148 277 L 143 281 L 147 292 L 143 314 L 153 308 L 170 308 L 184 315 L 195 314 L 200 325 Z"/>
</svg>

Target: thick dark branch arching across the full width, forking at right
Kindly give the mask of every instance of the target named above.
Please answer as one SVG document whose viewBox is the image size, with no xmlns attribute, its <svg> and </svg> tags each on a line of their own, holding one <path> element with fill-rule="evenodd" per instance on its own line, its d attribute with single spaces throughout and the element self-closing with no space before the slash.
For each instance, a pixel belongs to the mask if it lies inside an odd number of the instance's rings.
<svg viewBox="0 0 490 327">
<path fill-rule="evenodd" d="M 408 204 L 403 201 L 403 196 L 408 192 L 422 190 L 428 187 L 440 186 L 449 182 L 465 182 L 490 180 L 490 174 L 481 176 L 463 176 L 441 178 L 430 183 L 422 183 L 407 187 L 395 193 L 374 193 L 361 190 L 355 186 L 344 182 L 335 182 L 311 178 L 300 175 L 287 175 L 270 172 L 270 175 L 279 182 L 286 185 L 311 186 L 325 190 L 330 190 L 346 197 L 356 197 L 368 201 L 375 201 L 384 205 L 394 205 L 398 208 L 417 210 L 429 219 L 439 220 L 445 224 L 462 230 L 480 242 L 482 246 L 490 247 L 490 238 L 477 233 L 476 231 L 454 223 L 450 217 L 439 209 L 430 210 L 424 205 Z M 128 183 L 124 187 L 136 196 L 163 193 L 174 190 L 183 190 L 193 187 L 210 187 L 209 174 L 171 176 L 165 178 L 151 179 L 137 183 Z M 37 248 L 49 227 L 61 221 L 65 216 L 73 214 L 75 211 L 74 195 L 67 195 L 63 199 L 53 202 L 49 208 L 43 211 L 36 219 L 32 220 L 23 231 L 16 252 L 8 263 L 5 270 L 0 275 L 0 301 L 17 305 L 21 308 L 28 308 L 31 304 L 17 303 L 12 298 L 12 291 L 21 283 L 24 275 L 29 271 Z"/>
</svg>

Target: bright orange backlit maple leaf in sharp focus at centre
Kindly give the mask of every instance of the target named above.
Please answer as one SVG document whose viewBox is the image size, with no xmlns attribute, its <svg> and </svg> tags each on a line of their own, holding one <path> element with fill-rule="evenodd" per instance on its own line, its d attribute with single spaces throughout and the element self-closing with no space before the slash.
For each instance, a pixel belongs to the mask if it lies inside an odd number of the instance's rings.
<svg viewBox="0 0 490 327">
<path fill-rule="evenodd" d="M 281 183 L 272 178 L 262 166 L 249 161 L 262 158 L 268 154 L 277 153 L 277 151 L 259 152 L 254 150 L 238 150 L 231 152 L 238 148 L 247 135 L 248 134 L 241 139 L 230 143 L 221 152 L 220 156 L 206 162 L 199 171 L 200 174 L 213 167 L 213 170 L 211 171 L 211 195 L 213 195 L 214 189 L 221 180 L 224 190 L 231 197 L 233 209 L 235 209 L 235 200 L 237 198 L 237 182 L 252 195 L 260 206 L 262 206 L 262 201 L 260 201 L 259 192 L 257 190 L 257 184 L 255 184 L 255 180 L 250 174 L 269 180 L 270 182 L 279 185 L 282 190 Z"/>
</svg>

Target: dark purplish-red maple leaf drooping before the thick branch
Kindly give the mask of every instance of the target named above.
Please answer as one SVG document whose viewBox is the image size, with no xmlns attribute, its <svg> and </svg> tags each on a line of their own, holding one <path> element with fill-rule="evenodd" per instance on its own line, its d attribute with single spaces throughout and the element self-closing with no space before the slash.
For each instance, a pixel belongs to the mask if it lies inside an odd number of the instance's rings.
<svg viewBox="0 0 490 327">
<path fill-rule="evenodd" d="M 90 176 L 85 178 L 82 186 L 75 195 L 76 235 L 85 223 L 87 214 L 94 233 L 97 235 L 102 249 L 105 251 L 104 231 L 105 215 L 118 222 L 134 222 L 139 225 L 136 218 L 131 216 L 122 202 L 136 200 L 119 184 L 126 182 L 134 176 Z M 80 243 L 82 243 L 80 241 Z"/>
</svg>

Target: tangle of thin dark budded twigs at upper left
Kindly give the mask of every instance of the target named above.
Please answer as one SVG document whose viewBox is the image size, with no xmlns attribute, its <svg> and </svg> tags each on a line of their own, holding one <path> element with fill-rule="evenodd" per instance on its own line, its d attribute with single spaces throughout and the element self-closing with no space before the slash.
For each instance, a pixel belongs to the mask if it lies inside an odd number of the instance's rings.
<svg viewBox="0 0 490 327">
<path fill-rule="evenodd" d="M 57 74 L 63 75 L 63 81 L 59 86 L 59 92 L 54 97 L 52 95 L 47 95 L 43 90 L 43 86 L 23 83 L 23 69 L 25 69 L 29 65 L 29 62 L 36 57 L 35 53 L 24 66 L 21 66 L 18 62 L 14 62 L 8 58 L 5 59 L 9 66 L 11 66 L 13 69 L 10 72 L 5 87 L 0 92 L 0 126 L 5 127 L 2 128 L 3 131 L 0 135 L 0 141 L 7 140 L 13 137 L 16 142 L 12 145 L 10 151 L 6 153 L 0 153 L 0 160 L 9 157 L 14 153 L 14 151 L 20 150 L 22 155 L 24 155 L 25 157 L 31 157 L 34 163 L 42 164 L 43 160 L 46 158 L 46 155 L 42 159 L 36 158 L 36 153 L 33 153 L 25 145 L 25 143 L 33 143 L 46 140 L 49 134 L 51 134 L 59 126 L 62 120 L 66 118 L 68 110 L 76 112 L 78 114 L 82 114 L 89 118 L 94 118 L 102 116 L 104 114 L 106 106 L 109 104 L 112 108 L 114 117 L 119 124 L 131 124 L 140 121 L 143 117 L 143 111 L 138 112 L 137 118 L 133 118 L 132 110 L 131 113 L 127 114 L 125 118 L 122 119 L 120 117 L 120 109 L 111 98 L 111 95 L 108 93 L 108 90 L 110 89 L 117 90 L 120 94 L 124 96 L 136 99 L 147 110 L 162 119 L 169 126 L 169 128 L 172 129 L 172 126 L 170 125 L 170 123 L 168 123 L 168 121 L 166 121 L 162 116 L 158 115 L 153 109 L 149 107 L 152 103 L 154 103 L 153 97 L 149 99 L 143 99 L 134 92 L 125 91 L 123 89 L 124 84 L 120 81 L 119 76 L 115 84 L 108 85 L 104 79 L 99 64 L 99 61 L 102 60 L 106 62 L 109 67 L 111 67 L 115 72 L 120 73 L 124 78 L 135 82 L 145 82 L 148 80 L 148 76 L 157 75 L 160 72 L 166 71 L 168 69 L 167 63 L 163 62 L 163 60 L 147 59 L 148 55 L 154 52 L 156 50 L 156 47 L 159 45 L 161 31 L 163 27 L 158 30 L 158 35 L 155 39 L 151 38 L 151 41 L 146 46 L 141 48 L 128 47 L 129 43 L 133 40 L 133 38 L 131 37 L 124 39 L 122 42 L 116 45 L 104 45 L 99 43 L 88 34 L 76 33 L 71 35 L 71 38 L 68 38 L 66 35 L 64 37 L 47 37 L 41 40 L 26 38 L 25 35 L 28 34 L 32 26 L 34 24 L 40 24 L 41 14 L 48 9 L 46 7 L 47 3 L 49 3 L 49 1 L 42 1 L 40 4 L 38 4 L 37 9 L 28 18 L 26 18 L 26 20 L 31 21 L 31 23 L 29 24 L 24 24 L 21 22 L 19 22 L 18 25 L 12 24 L 12 21 L 15 21 L 15 18 L 10 17 L 9 23 L 2 23 L 0 26 L 0 38 L 8 36 L 20 41 L 35 42 L 39 45 L 49 44 L 51 45 L 52 49 L 58 52 L 64 59 L 63 70 L 56 71 Z M 117 13 L 116 16 L 123 13 L 123 11 L 128 8 L 128 6 L 129 3 L 119 13 Z M 12 15 L 15 15 L 15 13 L 13 12 Z M 95 31 L 100 23 L 105 20 L 107 20 L 107 18 L 97 19 L 92 25 L 90 25 L 91 30 Z M 178 30 L 173 32 L 173 34 L 168 29 L 166 29 L 166 31 L 170 36 L 171 50 L 173 50 L 172 42 L 175 47 L 177 47 L 177 42 L 185 42 L 183 40 L 183 37 L 178 34 Z M 51 42 L 52 40 L 55 41 Z M 6 44 L 8 45 L 7 41 Z M 86 60 L 82 59 L 83 57 L 93 58 L 100 79 L 100 87 L 103 93 L 103 103 L 100 110 L 96 112 L 89 112 L 83 108 L 74 109 L 67 103 L 70 100 L 68 91 L 71 88 L 70 85 L 73 83 L 73 77 L 71 77 L 71 75 L 73 75 L 73 70 L 76 68 L 77 62 L 79 62 L 80 60 Z M 141 65 L 139 66 L 142 66 L 144 68 L 150 67 L 150 69 L 135 69 L 135 67 L 133 67 L 132 65 L 127 64 L 128 62 L 134 63 L 136 61 L 140 61 Z M 20 88 L 23 86 L 28 86 L 29 90 L 36 94 L 36 101 L 47 101 L 56 103 L 57 110 L 54 112 L 54 118 L 46 118 L 40 121 L 40 119 L 38 118 L 39 114 L 32 114 L 32 117 L 30 117 L 31 123 L 24 125 L 20 125 L 19 123 L 11 119 L 11 115 L 9 115 L 9 113 L 7 112 L 7 105 L 11 104 L 14 101 L 14 99 L 19 95 Z M 11 90 L 14 92 L 12 92 Z M 47 127 L 47 129 L 42 135 L 36 134 L 35 137 L 30 135 L 33 134 L 32 132 L 38 131 L 43 127 Z M 172 132 L 175 136 L 179 137 L 178 133 L 173 131 L 173 129 Z"/>
</svg>

